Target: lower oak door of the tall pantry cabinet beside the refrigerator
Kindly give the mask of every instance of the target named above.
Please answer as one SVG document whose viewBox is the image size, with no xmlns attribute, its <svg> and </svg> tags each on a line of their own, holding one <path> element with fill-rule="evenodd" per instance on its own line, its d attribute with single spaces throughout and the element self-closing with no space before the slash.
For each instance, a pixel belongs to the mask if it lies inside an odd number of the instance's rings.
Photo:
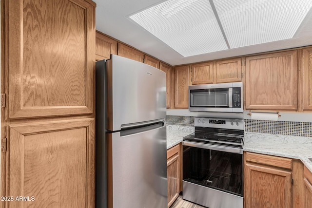
<svg viewBox="0 0 312 208">
<path fill-rule="evenodd" d="M 9 125 L 4 196 L 10 207 L 95 206 L 94 119 Z"/>
</svg>

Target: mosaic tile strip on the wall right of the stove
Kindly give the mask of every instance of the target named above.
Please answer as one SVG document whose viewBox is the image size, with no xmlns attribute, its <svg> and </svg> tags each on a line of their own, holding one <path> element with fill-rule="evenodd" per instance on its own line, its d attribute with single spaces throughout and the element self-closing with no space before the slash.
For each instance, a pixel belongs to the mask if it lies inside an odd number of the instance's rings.
<svg viewBox="0 0 312 208">
<path fill-rule="evenodd" d="M 245 119 L 245 131 L 312 137 L 312 123 Z"/>
</svg>

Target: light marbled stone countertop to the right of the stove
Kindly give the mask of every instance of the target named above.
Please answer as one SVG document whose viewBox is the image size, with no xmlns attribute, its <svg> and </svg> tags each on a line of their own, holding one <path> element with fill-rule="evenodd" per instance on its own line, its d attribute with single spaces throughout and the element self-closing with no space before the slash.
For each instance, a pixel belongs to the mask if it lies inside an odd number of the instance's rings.
<svg viewBox="0 0 312 208">
<path fill-rule="evenodd" d="M 167 144 L 168 146 L 168 144 Z M 312 138 L 245 132 L 244 151 L 300 159 L 312 172 Z"/>
</svg>

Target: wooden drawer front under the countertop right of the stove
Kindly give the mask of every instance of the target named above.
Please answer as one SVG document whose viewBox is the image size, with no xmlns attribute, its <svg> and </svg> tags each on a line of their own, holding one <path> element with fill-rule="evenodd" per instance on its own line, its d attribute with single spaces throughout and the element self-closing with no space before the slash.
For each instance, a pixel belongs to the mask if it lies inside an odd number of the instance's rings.
<svg viewBox="0 0 312 208">
<path fill-rule="evenodd" d="M 246 152 L 245 156 L 247 162 L 292 170 L 292 159 L 290 158 L 258 154 L 253 152 Z"/>
</svg>

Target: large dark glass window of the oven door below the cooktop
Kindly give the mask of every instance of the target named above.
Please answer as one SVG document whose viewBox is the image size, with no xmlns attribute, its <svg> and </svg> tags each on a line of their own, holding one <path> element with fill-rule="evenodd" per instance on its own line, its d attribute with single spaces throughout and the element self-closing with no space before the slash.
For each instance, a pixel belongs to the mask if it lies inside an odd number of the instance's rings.
<svg viewBox="0 0 312 208">
<path fill-rule="evenodd" d="M 183 180 L 243 196 L 243 155 L 183 146 Z"/>
</svg>

